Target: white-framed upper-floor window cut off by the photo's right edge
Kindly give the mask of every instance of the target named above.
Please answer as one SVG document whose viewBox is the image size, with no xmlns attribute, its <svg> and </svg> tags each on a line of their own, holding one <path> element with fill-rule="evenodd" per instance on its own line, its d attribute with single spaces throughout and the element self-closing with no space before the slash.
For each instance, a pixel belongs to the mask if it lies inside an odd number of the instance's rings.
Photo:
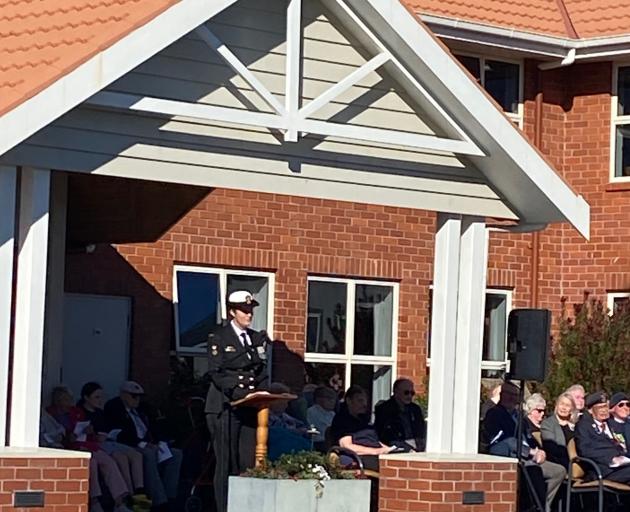
<svg viewBox="0 0 630 512">
<path fill-rule="evenodd" d="M 611 179 L 630 177 L 630 66 L 615 68 L 611 123 Z"/>
</svg>

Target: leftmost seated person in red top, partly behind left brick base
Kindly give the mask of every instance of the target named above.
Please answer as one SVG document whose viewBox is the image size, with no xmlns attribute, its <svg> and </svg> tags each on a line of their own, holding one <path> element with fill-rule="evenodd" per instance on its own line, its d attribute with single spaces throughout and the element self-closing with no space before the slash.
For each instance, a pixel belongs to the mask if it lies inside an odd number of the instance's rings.
<svg viewBox="0 0 630 512">
<path fill-rule="evenodd" d="M 77 423 L 80 421 L 81 412 L 74 405 L 74 399 L 70 390 L 63 386 L 53 389 L 52 405 L 47 412 L 65 428 L 65 436 L 63 437 L 64 448 L 72 450 L 89 451 L 92 453 L 91 464 L 95 465 L 98 472 L 90 472 L 90 512 L 103 512 L 100 503 L 102 496 L 98 474 L 100 474 L 109 489 L 114 500 L 114 512 L 132 512 L 125 505 L 125 498 L 129 495 L 125 480 L 120 474 L 120 470 L 107 453 L 101 450 L 98 442 L 87 439 L 88 435 L 92 435 L 94 430 L 91 426 L 87 427 L 83 433 L 75 433 Z M 85 434 L 85 439 L 83 439 Z M 92 466 L 91 466 L 92 467 Z"/>
</svg>

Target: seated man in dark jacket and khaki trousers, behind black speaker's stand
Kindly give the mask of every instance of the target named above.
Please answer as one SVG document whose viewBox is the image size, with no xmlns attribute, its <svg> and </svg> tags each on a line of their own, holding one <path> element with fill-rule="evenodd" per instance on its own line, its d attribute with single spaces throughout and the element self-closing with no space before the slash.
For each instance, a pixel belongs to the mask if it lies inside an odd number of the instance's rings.
<svg viewBox="0 0 630 512">
<path fill-rule="evenodd" d="M 564 481 L 566 471 L 559 464 L 546 460 L 545 451 L 531 435 L 530 422 L 523 422 L 523 445 L 517 446 L 518 403 L 519 388 L 510 382 L 504 382 L 501 385 L 499 403 L 486 413 L 482 425 L 483 437 L 492 455 L 516 457 L 517 450 L 520 450 L 522 459 L 526 461 L 525 469 L 532 476 L 532 481 L 536 481 L 537 471 L 542 472 L 544 492 L 543 489 L 538 489 L 538 485 L 535 487 L 537 487 L 537 493 L 542 494 L 545 499 L 545 510 L 550 511 L 553 499 Z"/>
</svg>

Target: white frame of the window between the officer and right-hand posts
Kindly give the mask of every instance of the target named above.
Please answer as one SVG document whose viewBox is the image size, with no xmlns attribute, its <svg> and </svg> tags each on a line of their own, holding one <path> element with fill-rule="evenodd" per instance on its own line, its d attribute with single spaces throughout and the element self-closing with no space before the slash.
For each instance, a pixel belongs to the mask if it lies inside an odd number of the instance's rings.
<svg viewBox="0 0 630 512">
<path fill-rule="evenodd" d="M 399 314 L 399 291 L 400 285 L 392 281 L 372 281 L 366 279 L 345 279 L 339 277 L 308 276 L 307 284 L 313 281 L 325 283 L 343 283 L 346 285 L 346 336 L 345 352 L 343 354 L 319 354 L 317 352 L 307 352 L 306 342 L 304 351 L 305 363 L 331 363 L 343 364 L 345 367 L 344 386 L 346 389 L 352 384 L 352 365 L 364 364 L 373 366 L 390 366 L 392 369 L 393 384 L 397 376 L 398 363 L 398 314 Z M 366 356 L 354 355 L 354 301 L 356 297 L 357 285 L 389 286 L 392 288 L 392 348 L 390 356 Z M 308 291 L 306 298 L 306 319 L 308 319 Z"/>
</svg>

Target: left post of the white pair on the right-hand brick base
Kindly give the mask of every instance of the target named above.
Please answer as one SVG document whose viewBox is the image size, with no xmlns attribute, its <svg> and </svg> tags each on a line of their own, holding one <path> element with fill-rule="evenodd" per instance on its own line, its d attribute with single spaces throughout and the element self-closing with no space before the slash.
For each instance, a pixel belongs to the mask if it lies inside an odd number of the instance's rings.
<svg viewBox="0 0 630 512">
<path fill-rule="evenodd" d="M 435 234 L 427 451 L 452 451 L 461 217 L 439 213 Z"/>
</svg>

